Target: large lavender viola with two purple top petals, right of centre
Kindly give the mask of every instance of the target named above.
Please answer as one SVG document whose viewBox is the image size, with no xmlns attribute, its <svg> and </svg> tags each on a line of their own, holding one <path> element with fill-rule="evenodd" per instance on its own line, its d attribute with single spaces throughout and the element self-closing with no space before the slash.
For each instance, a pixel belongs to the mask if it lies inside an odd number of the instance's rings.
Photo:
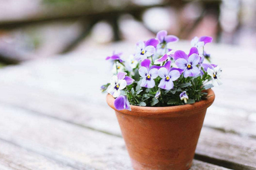
<svg viewBox="0 0 256 170">
<path fill-rule="evenodd" d="M 177 58 L 175 64 L 178 68 L 184 70 L 184 77 L 194 77 L 200 74 L 200 70 L 197 67 L 200 57 L 198 54 L 191 54 L 189 57 L 185 54 L 184 51 L 176 51 L 175 54 L 178 53 L 180 58 Z M 177 57 L 177 55 L 175 55 Z M 174 56 L 174 57 L 175 57 Z"/>
</svg>

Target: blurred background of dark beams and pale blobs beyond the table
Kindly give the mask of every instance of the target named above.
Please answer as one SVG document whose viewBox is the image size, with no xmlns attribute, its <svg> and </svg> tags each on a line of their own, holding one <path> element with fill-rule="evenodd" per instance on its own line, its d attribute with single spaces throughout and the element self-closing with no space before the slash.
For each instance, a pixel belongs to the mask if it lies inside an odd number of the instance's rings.
<svg viewBox="0 0 256 170">
<path fill-rule="evenodd" d="M 0 0 L 0 65 L 137 42 L 160 30 L 256 46 L 255 0 Z M 108 54 L 106 54 L 108 55 Z"/>
</svg>

